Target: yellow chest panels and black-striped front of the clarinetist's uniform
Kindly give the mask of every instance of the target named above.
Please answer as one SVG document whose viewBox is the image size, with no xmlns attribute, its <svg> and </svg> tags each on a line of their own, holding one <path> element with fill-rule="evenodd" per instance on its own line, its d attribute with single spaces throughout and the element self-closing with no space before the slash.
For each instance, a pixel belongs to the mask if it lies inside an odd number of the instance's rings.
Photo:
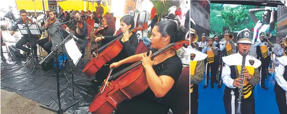
<svg viewBox="0 0 287 114">
<path fill-rule="evenodd" d="M 241 72 L 241 65 L 236 65 L 238 73 L 240 75 Z M 254 75 L 255 68 L 251 66 L 245 66 L 251 76 Z M 248 98 L 252 93 L 253 86 L 247 81 L 247 78 L 244 79 L 243 85 L 243 98 Z"/>
</svg>

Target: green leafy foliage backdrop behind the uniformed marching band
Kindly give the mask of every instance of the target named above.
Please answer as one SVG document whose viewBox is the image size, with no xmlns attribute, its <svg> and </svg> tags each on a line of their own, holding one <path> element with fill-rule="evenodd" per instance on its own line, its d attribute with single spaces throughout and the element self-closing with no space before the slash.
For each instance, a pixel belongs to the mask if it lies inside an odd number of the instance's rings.
<svg viewBox="0 0 287 114">
<path fill-rule="evenodd" d="M 231 32 L 240 31 L 248 28 L 250 31 L 255 26 L 249 15 L 249 9 L 252 8 L 265 8 L 265 6 L 254 5 L 230 5 L 230 4 L 210 4 L 210 29 L 211 36 L 213 34 L 223 34 L 225 29 Z M 233 7 L 234 6 L 234 7 Z M 256 17 L 261 20 L 264 11 L 255 12 Z M 276 35 L 276 25 L 274 34 Z M 252 32 L 252 31 L 251 31 Z"/>
</svg>

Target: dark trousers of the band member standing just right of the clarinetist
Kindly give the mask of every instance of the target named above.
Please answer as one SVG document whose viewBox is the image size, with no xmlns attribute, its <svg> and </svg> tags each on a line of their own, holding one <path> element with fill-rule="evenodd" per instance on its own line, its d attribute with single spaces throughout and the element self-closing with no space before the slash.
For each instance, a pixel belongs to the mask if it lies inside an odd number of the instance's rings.
<svg viewBox="0 0 287 114">
<path fill-rule="evenodd" d="M 261 66 L 258 69 L 259 72 L 261 71 L 261 86 L 265 86 L 265 76 L 267 76 L 268 66 L 270 64 L 270 56 L 267 56 L 266 58 L 261 56 L 260 61 Z"/>
</svg>

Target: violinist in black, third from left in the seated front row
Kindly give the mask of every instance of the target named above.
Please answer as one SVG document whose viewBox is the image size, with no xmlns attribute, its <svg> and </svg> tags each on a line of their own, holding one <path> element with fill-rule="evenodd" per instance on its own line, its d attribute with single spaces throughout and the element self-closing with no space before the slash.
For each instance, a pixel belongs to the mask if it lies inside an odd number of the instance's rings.
<svg viewBox="0 0 287 114">
<path fill-rule="evenodd" d="M 80 12 L 75 11 L 75 16 L 76 16 L 76 18 L 81 18 Z M 81 23 L 82 28 L 77 28 L 77 23 Z M 80 44 L 80 49 L 81 49 L 81 53 L 82 53 L 81 61 L 83 63 L 84 62 L 84 54 L 85 54 L 85 46 L 88 44 L 88 40 L 85 38 L 87 36 L 87 24 L 80 19 L 76 19 L 76 21 L 69 23 L 67 25 L 66 29 L 67 30 L 73 30 L 74 31 L 73 34 L 76 37 L 83 40 L 83 43 Z"/>
</svg>

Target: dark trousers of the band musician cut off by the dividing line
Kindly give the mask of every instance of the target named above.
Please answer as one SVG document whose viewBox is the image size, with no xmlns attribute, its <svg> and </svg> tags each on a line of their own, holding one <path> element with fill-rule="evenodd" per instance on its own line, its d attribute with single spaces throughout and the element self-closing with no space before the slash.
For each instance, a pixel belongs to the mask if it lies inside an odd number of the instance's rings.
<svg viewBox="0 0 287 114">
<path fill-rule="evenodd" d="M 190 93 L 190 114 L 198 114 L 199 108 L 199 85 L 194 84 L 193 92 Z"/>
</svg>

